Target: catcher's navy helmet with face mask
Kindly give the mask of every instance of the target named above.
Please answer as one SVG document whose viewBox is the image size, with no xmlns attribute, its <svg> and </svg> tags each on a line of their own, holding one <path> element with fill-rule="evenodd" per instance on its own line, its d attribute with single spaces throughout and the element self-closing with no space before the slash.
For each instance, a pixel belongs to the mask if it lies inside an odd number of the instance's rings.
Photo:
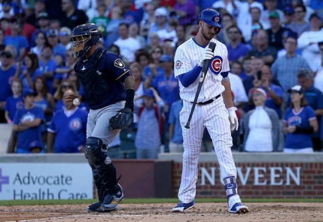
<svg viewBox="0 0 323 222">
<path fill-rule="evenodd" d="M 94 23 L 88 23 L 73 28 L 70 37 L 73 54 L 77 58 L 84 56 L 102 35 Z"/>
</svg>

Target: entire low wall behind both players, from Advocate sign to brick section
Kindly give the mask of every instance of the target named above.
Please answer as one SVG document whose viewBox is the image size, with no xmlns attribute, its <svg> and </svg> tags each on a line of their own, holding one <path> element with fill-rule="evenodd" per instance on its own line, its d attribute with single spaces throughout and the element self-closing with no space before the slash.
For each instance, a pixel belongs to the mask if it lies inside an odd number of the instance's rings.
<svg viewBox="0 0 323 222">
<path fill-rule="evenodd" d="M 323 153 L 234 153 L 243 198 L 323 198 Z M 177 197 L 182 154 L 113 160 L 126 198 Z M 214 153 L 201 153 L 197 197 L 225 198 Z M 96 197 L 84 154 L 0 155 L 0 200 Z"/>
</svg>

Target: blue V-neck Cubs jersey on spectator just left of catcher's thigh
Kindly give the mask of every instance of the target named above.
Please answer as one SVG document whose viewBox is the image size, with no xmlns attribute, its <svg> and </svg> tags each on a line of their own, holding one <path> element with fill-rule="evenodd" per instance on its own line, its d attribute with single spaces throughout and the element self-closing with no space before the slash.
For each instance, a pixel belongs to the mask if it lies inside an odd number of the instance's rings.
<svg viewBox="0 0 323 222">
<path fill-rule="evenodd" d="M 86 142 L 87 113 L 75 108 L 68 114 L 66 109 L 54 114 L 48 131 L 56 134 L 55 153 L 77 153 Z"/>
</svg>

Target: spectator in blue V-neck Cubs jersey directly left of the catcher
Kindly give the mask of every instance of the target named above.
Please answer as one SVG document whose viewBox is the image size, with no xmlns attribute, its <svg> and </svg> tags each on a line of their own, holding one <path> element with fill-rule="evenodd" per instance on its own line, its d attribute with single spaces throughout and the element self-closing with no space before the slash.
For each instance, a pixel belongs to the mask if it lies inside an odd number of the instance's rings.
<svg viewBox="0 0 323 222">
<path fill-rule="evenodd" d="M 63 98 L 75 94 L 73 90 L 65 91 Z M 64 102 L 64 109 L 56 112 L 48 127 L 48 152 L 78 153 L 83 152 L 86 142 L 87 112 L 79 107 L 71 106 L 72 102 Z M 55 141 L 55 149 L 53 143 Z M 66 143 L 69 141 L 69 143 Z"/>
</svg>

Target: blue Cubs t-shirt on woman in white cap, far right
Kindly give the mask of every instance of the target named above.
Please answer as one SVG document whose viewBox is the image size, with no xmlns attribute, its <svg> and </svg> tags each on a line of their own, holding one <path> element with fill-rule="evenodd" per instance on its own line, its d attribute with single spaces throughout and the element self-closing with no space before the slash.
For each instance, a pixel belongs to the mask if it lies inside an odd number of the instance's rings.
<svg viewBox="0 0 323 222">
<path fill-rule="evenodd" d="M 310 126 L 309 121 L 316 119 L 314 110 L 310 106 L 302 107 L 297 113 L 292 108 L 285 112 L 283 121 L 287 126 L 295 125 L 300 127 Z M 308 134 L 286 134 L 285 148 L 302 149 L 313 147 L 311 135 Z"/>
</svg>

